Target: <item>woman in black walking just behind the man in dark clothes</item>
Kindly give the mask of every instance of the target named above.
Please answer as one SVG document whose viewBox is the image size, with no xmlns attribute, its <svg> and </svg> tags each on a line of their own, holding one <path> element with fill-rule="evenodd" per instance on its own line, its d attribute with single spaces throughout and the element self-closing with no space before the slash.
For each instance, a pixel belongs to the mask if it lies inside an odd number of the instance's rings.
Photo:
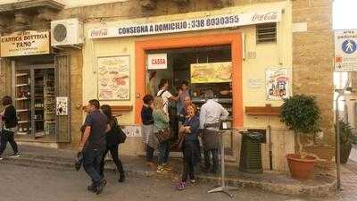
<svg viewBox="0 0 357 201">
<path fill-rule="evenodd" d="M 117 119 L 112 116 L 112 108 L 110 105 L 102 105 L 101 106 L 102 113 L 104 113 L 109 120 L 109 125 L 111 127 L 111 130 L 109 130 L 106 133 L 106 149 L 104 151 L 104 155 L 102 157 L 102 163 L 101 163 L 101 169 L 100 172 L 102 174 L 102 177 L 104 176 L 104 163 L 105 163 L 105 155 L 108 154 L 108 152 L 111 152 L 112 155 L 112 161 L 115 163 L 117 166 L 118 172 L 120 173 L 120 178 L 119 182 L 124 182 L 125 180 L 125 173 L 122 167 L 122 163 L 119 159 L 119 153 L 118 153 L 118 147 L 120 144 L 120 126 L 118 124 Z"/>
</svg>

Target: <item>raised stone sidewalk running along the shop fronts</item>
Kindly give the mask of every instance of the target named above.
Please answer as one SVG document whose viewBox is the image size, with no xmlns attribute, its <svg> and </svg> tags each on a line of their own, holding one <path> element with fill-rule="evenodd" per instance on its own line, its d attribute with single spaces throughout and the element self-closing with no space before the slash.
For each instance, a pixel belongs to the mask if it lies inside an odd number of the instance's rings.
<svg viewBox="0 0 357 201">
<path fill-rule="evenodd" d="M 1 163 L 13 163 L 22 166 L 33 166 L 55 170 L 73 171 L 75 150 L 51 149 L 43 147 L 21 146 L 21 157 L 8 159 Z M 8 153 L 10 154 L 10 153 Z M 158 176 L 156 172 L 146 166 L 143 157 L 121 156 L 124 168 L 130 176 L 148 176 L 154 178 L 169 178 L 179 180 L 181 160 L 171 159 L 173 171 Z M 112 163 L 106 165 L 107 170 L 115 170 Z M 264 172 L 262 174 L 248 174 L 239 172 L 237 167 L 227 167 L 227 182 L 231 186 L 241 188 L 258 188 L 279 194 L 307 197 L 329 197 L 336 194 L 336 181 L 333 177 L 317 175 L 313 180 L 293 180 L 286 172 Z M 220 175 L 197 172 L 197 179 L 204 183 L 220 183 Z"/>
</svg>

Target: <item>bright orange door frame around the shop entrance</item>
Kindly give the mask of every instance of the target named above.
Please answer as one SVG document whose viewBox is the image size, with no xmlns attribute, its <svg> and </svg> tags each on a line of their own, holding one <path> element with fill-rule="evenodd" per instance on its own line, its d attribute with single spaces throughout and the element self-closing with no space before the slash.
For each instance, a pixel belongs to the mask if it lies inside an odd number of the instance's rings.
<svg viewBox="0 0 357 201">
<path fill-rule="evenodd" d="M 230 48 L 227 48 L 229 46 Z M 186 50 L 185 50 L 186 49 Z M 149 71 L 146 71 L 146 54 L 150 52 L 164 52 L 169 51 L 172 54 L 172 58 L 177 58 L 177 63 L 172 63 L 172 66 L 177 65 L 179 68 L 186 68 L 187 69 L 187 62 L 183 62 L 179 64 L 180 57 L 183 54 L 193 54 L 185 53 L 188 49 L 195 49 L 198 52 L 205 52 L 202 58 L 198 58 L 198 63 L 207 63 L 207 54 L 210 52 L 221 52 L 226 54 L 220 54 L 222 60 L 221 61 L 231 61 L 231 84 L 229 83 L 222 83 L 221 90 L 217 89 L 218 93 L 223 91 L 223 88 L 231 88 L 231 117 L 232 117 L 232 128 L 239 129 L 243 127 L 243 97 L 242 97 L 242 38 L 241 34 L 238 32 L 230 32 L 227 34 L 205 34 L 202 36 L 193 36 L 193 37 L 181 37 L 181 38 L 157 38 L 157 39 L 150 39 L 145 41 L 137 41 L 136 42 L 136 113 L 135 113 L 135 121 L 136 123 L 141 122 L 140 113 L 137 113 L 141 110 L 143 105 L 142 97 L 145 96 L 147 93 L 153 93 L 155 89 L 157 89 L 157 84 L 150 84 L 148 86 L 147 79 L 150 78 Z M 184 53 L 182 53 L 182 51 Z M 225 57 L 224 55 L 230 56 Z M 195 54 L 194 54 L 195 55 Z M 188 56 L 188 55 L 187 55 Z M 172 60 L 172 59 L 171 59 Z M 175 59 L 174 59 L 175 60 Z M 197 63 L 197 56 L 193 56 L 194 63 Z M 187 60 L 185 60 L 187 61 Z M 189 61 L 189 60 L 188 60 Z M 214 58 L 214 55 L 209 56 L 209 62 L 220 61 L 218 58 Z M 191 62 L 191 61 L 189 61 Z M 185 64 L 186 63 L 186 64 Z M 186 67 L 181 67 L 185 66 Z M 180 67 L 179 67 L 180 66 Z M 176 81 L 187 77 L 187 74 L 179 75 L 178 70 L 176 78 L 172 76 L 174 79 L 171 84 L 175 84 Z M 174 73 L 174 67 L 172 67 L 172 75 Z M 160 74 L 160 73 L 159 73 Z M 206 83 L 207 84 L 207 83 Z M 152 87 L 152 85 L 154 87 Z M 211 85 L 211 84 L 209 84 Z M 215 84 L 212 84 L 210 87 L 214 88 Z M 201 92 L 200 85 L 196 87 L 198 90 L 195 91 L 195 96 L 200 95 Z M 191 88 L 192 90 L 192 88 Z M 222 93 L 225 94 L 225 93 Z M 193 94 L 194 96 L 194 94 Z M 229 94 L 228 94 L 229 96 Z M 199 98 L 199 96 L 198 96 Z M 235 145 L 236 139 L 231 141 L 231 145 Z M 235 160 L 237 158 L 235 147 L 233 147 L 233 155 L 232 159 Z"/>
</svg>

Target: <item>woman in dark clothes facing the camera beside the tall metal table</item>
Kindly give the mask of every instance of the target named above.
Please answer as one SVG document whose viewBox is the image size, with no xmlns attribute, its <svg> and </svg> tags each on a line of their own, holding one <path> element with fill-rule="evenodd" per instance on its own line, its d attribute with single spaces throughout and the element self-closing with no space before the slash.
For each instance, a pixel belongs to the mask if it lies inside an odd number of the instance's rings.
<svg viewBox="0 0 357 201">
<path fill-rule="evenodd" d="M 195 164 L 199 161 L 200 151 L 197 147 L 198 135 L 200 132 L 200 119 L 196 115 L 197 109 L 195 105 L 187 105 L 187 119 L 183 126 L 180 128 L 180 142 L 179 147 L 183 152 L 183 173 L 182 180 L 179 182 L 178 189 L 186 189 L 186 182 L 192 185 L 196 184 L 195 181 Z"/>
</svg>

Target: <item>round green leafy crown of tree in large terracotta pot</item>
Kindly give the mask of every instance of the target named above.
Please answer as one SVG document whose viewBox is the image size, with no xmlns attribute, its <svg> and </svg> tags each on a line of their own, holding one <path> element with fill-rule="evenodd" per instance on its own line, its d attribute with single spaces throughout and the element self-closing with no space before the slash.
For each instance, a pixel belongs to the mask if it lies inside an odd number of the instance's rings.
<svg viewBox="0 0 357 201">
<path fill-rule="evenodd" d="M 314 96 L 295 95 L 284 99 L 280 119 L 295 134 L 315 135 L 320 132 L 320 108 Z"/>
</svg>

